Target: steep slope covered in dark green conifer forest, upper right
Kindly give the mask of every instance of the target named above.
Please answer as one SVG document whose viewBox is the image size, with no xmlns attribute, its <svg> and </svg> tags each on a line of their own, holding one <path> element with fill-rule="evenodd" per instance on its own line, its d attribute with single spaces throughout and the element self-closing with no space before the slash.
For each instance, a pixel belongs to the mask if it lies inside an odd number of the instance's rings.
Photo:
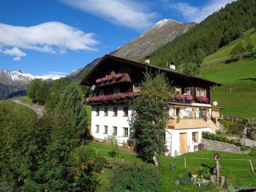
<svg viewBox="0 0 256 192">
<path fill-rule="evenodd" d="M 165 67 L 171 60 L 179 70 L 180 63 L 193 65 L 205 55 L 216 52 L 256 24 L 256 1 L 241 0 L 229 3 L 212 13 L 193 29 L 153 51 L 152 65 Z M 189 68 L 190 66 L 188 66 Z"/>
</svg>

